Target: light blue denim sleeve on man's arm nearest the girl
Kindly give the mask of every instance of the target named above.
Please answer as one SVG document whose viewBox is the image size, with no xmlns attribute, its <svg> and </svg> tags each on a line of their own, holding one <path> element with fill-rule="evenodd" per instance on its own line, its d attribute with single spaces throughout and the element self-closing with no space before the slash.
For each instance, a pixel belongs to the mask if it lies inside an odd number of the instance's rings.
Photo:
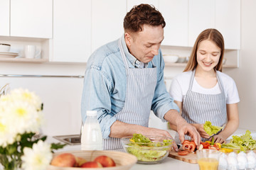
<svg viewBox="0 0 256 170">
<path fill-rule="evenodd" d="M 161 61 L 161 68 L 159 71 L 159 77 L 156 82 L 156 89 L 154 98 L 151 105 L 152 111 L 154 114 L 160 118 L 163 122 L 166 122 L 164 119 L 164 115 L 171 109 L 174 109 L 179 112 L 179 108 L 174 103 L 174 99 L 171 98 L 170 94 L 166 90 L 166 86 L 164 84 L 164 61 Z"/>
</svg>

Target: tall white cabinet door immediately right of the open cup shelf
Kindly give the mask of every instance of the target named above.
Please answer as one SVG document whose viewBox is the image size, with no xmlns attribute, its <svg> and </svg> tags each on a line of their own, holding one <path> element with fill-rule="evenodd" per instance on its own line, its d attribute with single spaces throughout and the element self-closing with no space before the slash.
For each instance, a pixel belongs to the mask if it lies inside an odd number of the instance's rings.
<svg viewBox="0 0 256 170">
<path fill-rule="evenodd" d="M 91 0 L 53 1 L 51 62 L 87 62 L 91 52 Z"/>
</svg>

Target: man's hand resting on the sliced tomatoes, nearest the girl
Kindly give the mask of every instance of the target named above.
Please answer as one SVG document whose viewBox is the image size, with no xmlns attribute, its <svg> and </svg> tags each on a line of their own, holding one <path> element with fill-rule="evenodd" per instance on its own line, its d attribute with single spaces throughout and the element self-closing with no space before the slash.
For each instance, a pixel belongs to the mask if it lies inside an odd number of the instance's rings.
<svg viewBox="0 0 256 170">
<path fill-rule="evenodd" d="M 184 141 L 184 135 L 188 135 L 196 143 L 197 147 L 199 147 L 201 136 L 193 125 L 183 121 L 183 123 L 177 124 L 177 131 L 181 143 Z"/>
</svg>

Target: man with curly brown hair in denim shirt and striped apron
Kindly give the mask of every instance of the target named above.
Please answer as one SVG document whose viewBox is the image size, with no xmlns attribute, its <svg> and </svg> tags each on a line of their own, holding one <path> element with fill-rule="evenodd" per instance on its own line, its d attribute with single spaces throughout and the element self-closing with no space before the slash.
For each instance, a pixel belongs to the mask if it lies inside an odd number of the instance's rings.
<svg viewBox="0 0 256 170">
<path fill-rule="evenodd" d="M 124 18 L 124 35 L 103 45 L 87 62 L 82 91 L 82 120 L 97 111 L 104 149 L 120 149 L 121 137 L 134 133 L 171 137 L 166 130 L 147 128 L 149 113 L 177 125 L 180 140 L 200 135 L 178 114 L 164 85 L 164 18 L 153 6 L 134 6 Z M 174 145 L 177 150 L 177 146 Z"/>
</svg>

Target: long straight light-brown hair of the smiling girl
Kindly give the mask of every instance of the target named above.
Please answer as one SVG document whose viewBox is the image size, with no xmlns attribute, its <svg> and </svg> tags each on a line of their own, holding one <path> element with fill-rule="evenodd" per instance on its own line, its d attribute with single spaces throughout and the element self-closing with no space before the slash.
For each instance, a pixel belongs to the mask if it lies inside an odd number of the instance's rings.
<svg viewBox="0 0 256 170">
<path fill-rule="evenodd" d="M 218 30 L 213 28 L 203 30 L 203 32 L 198 35 L 198 38 L 196 39 L 196 42 L 191 52 L 191 56 L 189 57 L 188 64 L 186 65 L 186 68 L 184 69 L 183 72 L 188 72 L 193 69 L 196 69 L 196 66 L 198 65 L 198 62 L 196 60 L 196 52 L 198 50 L 199 43 L 203 40 L 210 40 L 220 48 L 220 60 L 218 61 L 218 64 L 214 67 L 214 69 L 222 72 L 224 56 L 224 38 L 223 35 L 221 35 L 221 33 Z"/>
</svg>

